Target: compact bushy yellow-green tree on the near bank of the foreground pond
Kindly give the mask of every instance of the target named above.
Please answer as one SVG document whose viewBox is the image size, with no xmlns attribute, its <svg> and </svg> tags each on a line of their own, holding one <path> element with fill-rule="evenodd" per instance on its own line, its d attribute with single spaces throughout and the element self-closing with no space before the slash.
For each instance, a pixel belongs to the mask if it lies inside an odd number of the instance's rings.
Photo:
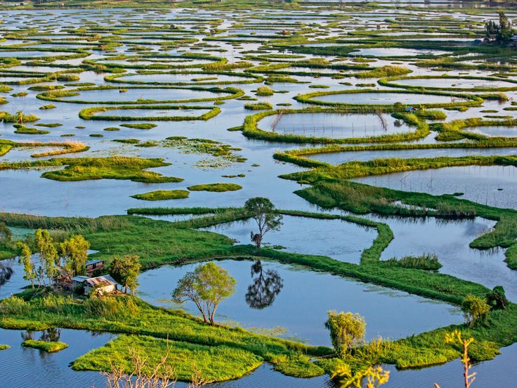
<svg viewBox="0 0 517 388">
<path fill-rule="evenodd" d="M 346 356 L 365 337 L 365 318 L 350 311 L 338 313 L 332 310 L 328 311 L 328 315 L 325 328 L 330 332 L 332 346 L 341 357 Z"/>
</svg>

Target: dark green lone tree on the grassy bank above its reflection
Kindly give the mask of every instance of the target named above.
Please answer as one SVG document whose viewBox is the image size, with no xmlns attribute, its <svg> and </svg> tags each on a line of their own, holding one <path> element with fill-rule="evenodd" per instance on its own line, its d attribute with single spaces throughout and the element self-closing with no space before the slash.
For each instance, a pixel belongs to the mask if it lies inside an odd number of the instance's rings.
<svg viewBox="0 0 517 388">
<path fill-rule="evenodd" d="M 282 214 L 275 211 L 275 205 L 268 198 L 250 198 L 244 203 L 244 209 L 251 214 L 258 225 L 258 233 L 251 232 L 251 241 L 257 248 L 262 245 L 262 239 L 268 231 L 278 231 L 282 226 Z"/>
</svg>

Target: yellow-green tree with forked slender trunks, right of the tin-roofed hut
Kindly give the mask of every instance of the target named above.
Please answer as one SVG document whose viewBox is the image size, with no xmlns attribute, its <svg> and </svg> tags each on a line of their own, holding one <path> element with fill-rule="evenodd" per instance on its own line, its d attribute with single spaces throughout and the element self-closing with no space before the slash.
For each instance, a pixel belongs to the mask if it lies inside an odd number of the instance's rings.
<svg viewBox="0 0 517 388">
<path fill-rule="evenodd" d="M 176 303 L 194 302 L 205 323 L 214 325 L 214 315 L 221 301 L 235 292 L 235 279 L 214 263 L 199 264 L 178 281 L 172 298 Z"/>
</svg>

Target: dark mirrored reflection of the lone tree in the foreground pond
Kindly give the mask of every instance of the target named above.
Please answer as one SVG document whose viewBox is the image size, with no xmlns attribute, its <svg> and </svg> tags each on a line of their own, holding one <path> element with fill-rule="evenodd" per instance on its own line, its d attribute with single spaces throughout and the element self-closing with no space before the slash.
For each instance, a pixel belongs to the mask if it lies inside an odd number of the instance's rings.
<svg viewBox="0 0 517 388">
<path fill-rule="evenodd" d="M 254 276 L 256 278 L 246 292 L 246 302 L 251 309 L 264 309 L 275 302 L 275 298 L 284 287 L 284 283 L 280 273 L 274 269 L 264 271 L 260 260 L 251 265 L 251 278 Z"/>
</svg>

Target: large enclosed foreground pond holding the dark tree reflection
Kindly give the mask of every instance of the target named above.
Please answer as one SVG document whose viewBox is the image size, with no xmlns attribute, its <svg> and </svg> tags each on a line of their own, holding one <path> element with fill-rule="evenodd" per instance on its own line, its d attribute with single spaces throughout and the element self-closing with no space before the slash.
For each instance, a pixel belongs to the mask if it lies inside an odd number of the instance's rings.
<svg viewBox="0 0 517 388">
<path fill-rule="evenodd" d="M 280 326 L 287 328 L 282 337 L 295 337 L 310 344 L 330 345 L 324 323 L 327 311 L 333 309 L 364 316 L 368 340 L 378 335 L 391 339 L 407 337 L 464 321 L 459 309 L 445 303 L 327 273 L 261 261 L 261 278 L 260 273 L 251 276 L 252 261 L 224 260 L 216 264 L 237 280 L 235 294 L 221 302 L 216 321 L 244 328 Z M 139 278 L 140 297 L 152 304 L 178 307 L 171 303 L 171 292 L 178 280 L 195 266 L 162 266 L 145 271 Z M 267 279 L 274 285 L 281 283 L 280 290 L 263 287 Z M 257 286 L 253 292 L 249 291 L 250 285 Z M 199 315 L 192 302 L 186 302 L 183 308 Z"/>
</svg>

